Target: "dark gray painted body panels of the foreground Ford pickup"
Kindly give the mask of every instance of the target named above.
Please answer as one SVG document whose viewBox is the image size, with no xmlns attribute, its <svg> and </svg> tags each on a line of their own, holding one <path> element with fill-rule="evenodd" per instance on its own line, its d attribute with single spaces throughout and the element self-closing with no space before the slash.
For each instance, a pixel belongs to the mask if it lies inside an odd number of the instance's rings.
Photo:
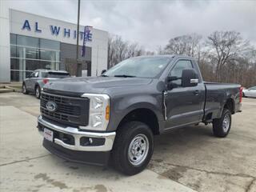
<svg viewBox="0 0 256 192">
<path fill-rule="evenodd" d="M 154 56 L 153 56 L 154 57 Z M 166 57 L 166 56 L 164 56 Z M 46 84 L 49 90 L 75 93 L 108 94 L 110 96 L 110 122 L 107 131 L 114 131 L 122 118 L 136 109 L 148 109 L 158 118 L 159 132 L 174 127 L 204 122 L 207 114 L 219 118 L 227 99 L 232 99 L 235 110 L 239 110 L 239 85 L 202 82 L 202 75 L 194 58 L 168 56 L 172 58 L 160 78 L 69 78 Z M 193 61 L 198 72 L 199 83 L 194 87 L 179 87 L 167 90 L 166 77 L 180 59 Z M 164 118 L 163 93 L 166 91 L 167 119 Z M 198 91 L 198 94 L 195 94 Z M 206 103 L 205 103 L 206 101 Z M 204 108 L 205 106 L 205 108 Z"/>
</svg>

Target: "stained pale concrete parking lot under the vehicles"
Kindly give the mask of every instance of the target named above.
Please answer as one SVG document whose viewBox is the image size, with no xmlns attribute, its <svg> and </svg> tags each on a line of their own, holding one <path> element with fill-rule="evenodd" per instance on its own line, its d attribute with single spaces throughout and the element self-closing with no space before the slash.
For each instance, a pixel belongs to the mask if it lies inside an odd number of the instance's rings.
<svg viewBox="0 0 256 192">
<path fill-rule="evenodd" d="M 211 125 L 157 136 L 141 174 L 66 162 L 42 147 L 39 100 L 0 94 L 0 191 L 256 191 L 256 99 L 244 98 L 227 138 Z"/>
</svg>

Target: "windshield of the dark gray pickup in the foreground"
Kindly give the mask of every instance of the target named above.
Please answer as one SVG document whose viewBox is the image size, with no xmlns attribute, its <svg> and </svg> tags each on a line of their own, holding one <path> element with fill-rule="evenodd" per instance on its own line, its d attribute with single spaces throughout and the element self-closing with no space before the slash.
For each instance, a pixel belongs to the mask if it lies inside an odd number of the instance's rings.
<svg viewBox="0 0 256 192">
<path fill-rule="evenodd" d="M 102 76 L 124 78 L 156 78 L 161 74 L 170 58 L 129 58 L 107 70 Z"/>
</svg>

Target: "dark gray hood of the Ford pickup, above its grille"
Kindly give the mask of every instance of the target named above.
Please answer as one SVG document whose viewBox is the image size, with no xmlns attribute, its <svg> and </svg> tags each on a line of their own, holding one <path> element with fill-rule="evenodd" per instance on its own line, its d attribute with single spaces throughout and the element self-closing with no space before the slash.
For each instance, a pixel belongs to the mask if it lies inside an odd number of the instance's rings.
<svg viewBox="0 0 256 192">
<path fill-rule="evenodd" d="M 63 91 L 70 93 L 94 93 L 100 94 L 107 88 L 125 86 L 143 86 L 152 82 L 150 78 L 114 78 L 114 77 L 90 77 L 90 78 L 62 78 L 46 83 L 45 91 Z"/>
</svg>

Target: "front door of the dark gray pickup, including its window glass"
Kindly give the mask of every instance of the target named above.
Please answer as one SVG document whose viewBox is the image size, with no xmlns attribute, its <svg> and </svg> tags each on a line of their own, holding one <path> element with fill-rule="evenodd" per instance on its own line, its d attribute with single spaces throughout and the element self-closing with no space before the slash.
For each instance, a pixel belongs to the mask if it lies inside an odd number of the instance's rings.
<svg viewBox="0 0 256 192">
<path fill-rule="evenodd" d="M 194 69 L 190 60 L 178 60 L 168 76 L 182 78 L 182 70 Z M 166 91 L 166 129 L 186 126 L 202 120 L 205 86 L 182 87 L 182 80 L 172 81 L 174 88 Z"/>
</svg>

